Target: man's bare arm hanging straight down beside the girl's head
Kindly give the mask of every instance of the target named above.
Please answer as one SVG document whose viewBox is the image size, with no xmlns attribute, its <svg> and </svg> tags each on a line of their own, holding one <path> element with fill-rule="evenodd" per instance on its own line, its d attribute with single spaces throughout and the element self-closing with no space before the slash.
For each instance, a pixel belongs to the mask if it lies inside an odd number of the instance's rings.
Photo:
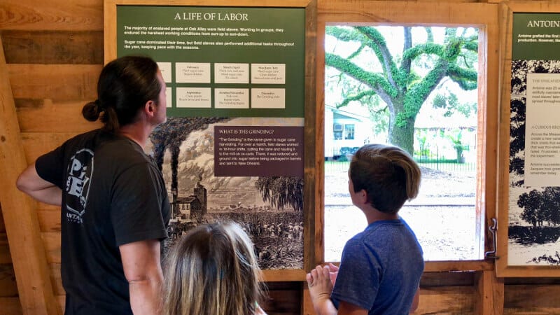
<svg viewBox="0 0 560 315">
<path fill-rule="evenodd" d="M 163 283 L 160 241 L 135 241 L 119 246 L 119 250 L 129 283 L 132 312 L 135 315 L 160 314 Z"/>
</svg>

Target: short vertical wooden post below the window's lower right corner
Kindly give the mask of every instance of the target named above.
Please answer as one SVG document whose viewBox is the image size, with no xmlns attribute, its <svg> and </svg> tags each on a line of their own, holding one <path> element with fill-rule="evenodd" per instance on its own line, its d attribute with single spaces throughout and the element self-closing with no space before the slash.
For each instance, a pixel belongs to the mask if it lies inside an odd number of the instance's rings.
<svg viewBox="0 0 560 315">
<path fill-rule="evenodd" d="M 484 270 L 475 275 L 475 314 L 503 314 L 504 286 L 503 278 L 496 278 L 495 270 Z"/>
</svg>

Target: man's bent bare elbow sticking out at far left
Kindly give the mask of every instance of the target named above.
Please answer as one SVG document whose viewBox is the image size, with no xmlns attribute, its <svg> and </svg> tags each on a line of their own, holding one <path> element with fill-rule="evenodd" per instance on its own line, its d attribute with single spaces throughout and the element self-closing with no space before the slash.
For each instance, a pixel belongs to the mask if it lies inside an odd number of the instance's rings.
<svg viewBox="0 0 560 315">
<path fill-rule="evenodd" d="M 29 165 L 20 174 L 18 181 L 15 182 L 15 186 L 35 200 L 45 204 L 60 206 L 62 203 L 62 190 L 55 186 L 55 184 L 41 179 L 35 169 L 35 163 Z"/>
</svg>

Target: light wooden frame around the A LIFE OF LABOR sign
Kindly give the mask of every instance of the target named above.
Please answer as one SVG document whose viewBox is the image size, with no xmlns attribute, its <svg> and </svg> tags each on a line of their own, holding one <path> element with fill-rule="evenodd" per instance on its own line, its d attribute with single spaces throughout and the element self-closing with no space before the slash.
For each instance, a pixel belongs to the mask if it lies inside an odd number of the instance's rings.
<svg viewBox="0 0 560 315">
<path fill-rule="evenodd" d="M 305 10 L 305 69 L 304 69 L 304 269 L 265 269 L 265 281 L 304 281 L 306 270 L 314 266 L 314 204 L 316 198 L 315 139 L 315 49 L 316 0 L 288 1 L 226 1 L 226 0 L 104 0 L 104 59 L 105 63 L 117 57 L 117 6 L 213 6 L 258 8 L 304 8 Z"/>
</svg>

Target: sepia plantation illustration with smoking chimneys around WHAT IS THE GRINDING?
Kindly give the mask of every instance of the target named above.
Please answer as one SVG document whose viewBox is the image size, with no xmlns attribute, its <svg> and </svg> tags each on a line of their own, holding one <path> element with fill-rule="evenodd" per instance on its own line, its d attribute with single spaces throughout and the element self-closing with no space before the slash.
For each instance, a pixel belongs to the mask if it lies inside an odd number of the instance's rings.
<svg viewBox="0 0 560 315">
<path fill-rule="evenodd" d="M 301 126 L 302 118 L 169 118 L 151 135 L 172 219 L 166 249 L 203 223 L 232 220 L 255 244 L 262 269 L 303 267 L 302 176 L 215 176 L 215 127 Z"/>
</svg>

